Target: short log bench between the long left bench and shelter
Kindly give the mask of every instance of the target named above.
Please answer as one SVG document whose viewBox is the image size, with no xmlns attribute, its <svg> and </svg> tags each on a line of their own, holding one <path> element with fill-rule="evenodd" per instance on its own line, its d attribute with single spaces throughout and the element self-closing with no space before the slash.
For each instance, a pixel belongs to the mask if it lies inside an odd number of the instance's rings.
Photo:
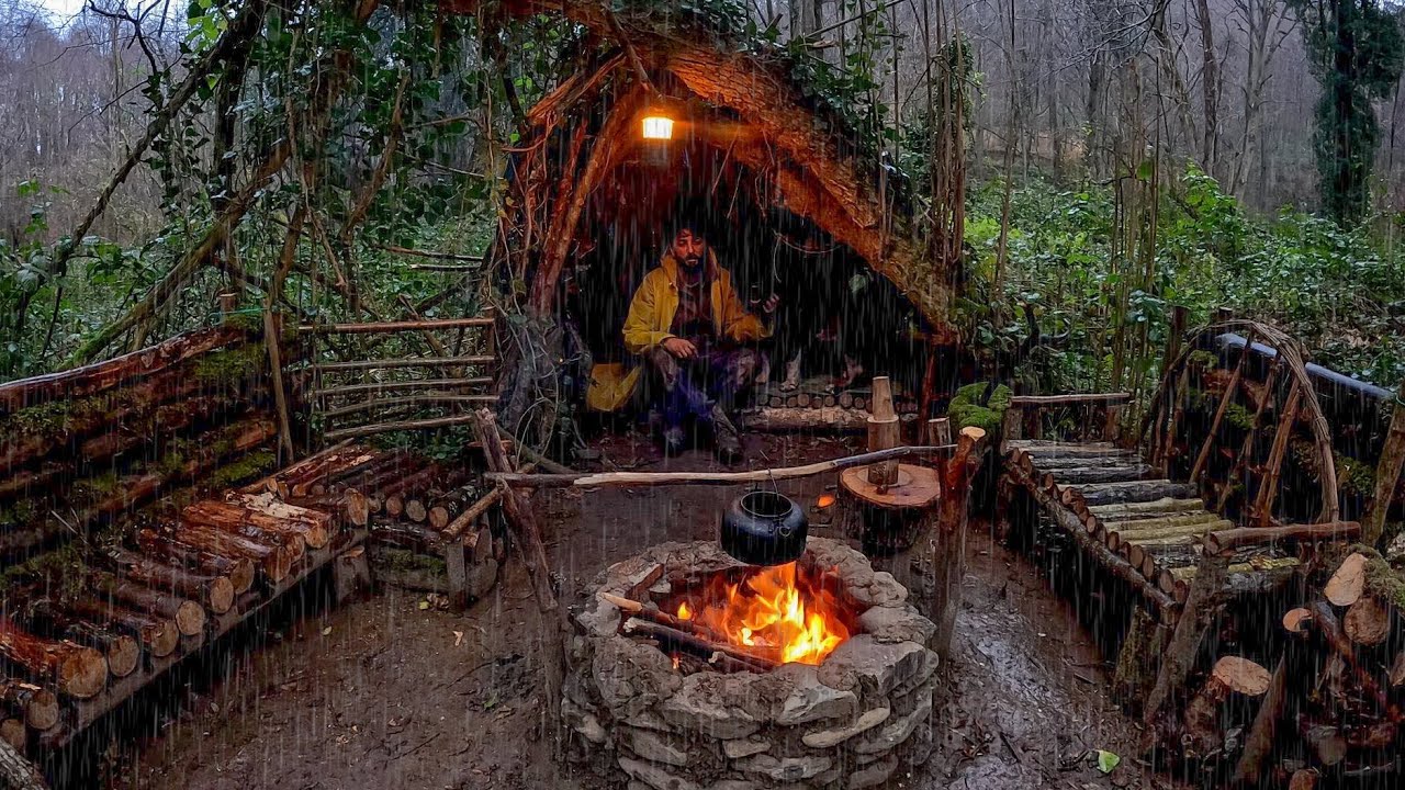
<svg viewBox="0 0 1405 790">
<path fill-rule="evenodd" d="M 473 478 L 466 462 L 343 441 L 244 486 L 242 496 L 368 527 L 377 581 L 443 593 L 462 607 L 492 589 L 506 548 L 486 523 L 497 498 L 479 492 Z"/>
</svg>

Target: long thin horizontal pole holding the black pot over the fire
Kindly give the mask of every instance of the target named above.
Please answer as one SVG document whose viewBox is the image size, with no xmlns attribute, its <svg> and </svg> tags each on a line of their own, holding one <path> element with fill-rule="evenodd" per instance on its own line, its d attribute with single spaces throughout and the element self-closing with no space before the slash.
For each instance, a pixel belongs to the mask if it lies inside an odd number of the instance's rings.
<svg viewBox="0 0 1405 790">
<path fill-rule="evenodd" d="M 603 485 L 649 486 L 684 484 L 738 485 L 745 482 L 771 482 L 808 478 L 837 470 L 847 470 L 850 467 L 863 467 L 867 464 L 877 464 L 878 461 L 891 461 L 894 458 L 948 454 L 954 453 L 955 448 L 955 444 L 943 444 L 939 447 L 894 447 L 891 450 L 860 453 L 858 455 L 833 458 L 830 461 L 819 461 L 818 464 L 805 464 L 802 467 L 780 467 L 776 470 L 754 470 L 750 472 L 580 472 L 572 475 L 518 475 L 489 472 L 483 477 L 495 482 L 520 488 L 596 488 Z"/>
</svg>

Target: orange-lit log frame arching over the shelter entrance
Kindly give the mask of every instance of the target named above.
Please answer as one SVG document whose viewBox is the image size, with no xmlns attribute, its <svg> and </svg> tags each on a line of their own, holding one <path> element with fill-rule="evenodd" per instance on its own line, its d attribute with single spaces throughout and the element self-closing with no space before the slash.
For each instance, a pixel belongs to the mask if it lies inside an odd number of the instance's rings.
<svg viewBox="0 0 1405 790">
<path fill-rule="evenodd" d="M 451 0 L 443 7 L 452 13 L 475 13 L 475 0 Z M 926 254 L 906 229 L 906 221 L 894 216 L 880 188 L 864 176 L 864 170 L 853 156 L 846 155 L 835 139 L 833 129 L 819 118 L 823 112 L 812 107 L 799 86 L 785 76 L 780 51 L 776 60 L 762 55 L 733 52 L 715 35 L 697 28 L 690 41 L 680 35 L 676 24 L 672 27 L 652 24 L 646 14 L 620 14 L 606 3 L 562 3 L 561 0 L 528 0 L 510 4 L 510 14 L 559 14 L 580 24 L 603 41 L 620 44 L 628 52 L 632 67 L 618 56 L 606 58 L 592 72 L 592 76 L 570 82 L 542 101 L 547 111 L 532 108 L 524 139 L 545 139 L 562 118 L 592 118 L 600 97 L 607 94 L 601 86 L 608 77 L 615 77 L 611 91 L 617 97 L 631 97 L 615 101 L 607 108 L 604 124 L 613 129 L 628 129 L 625 121 L 634 119 L 639 111 L 638 91 L 646 91 L 651 100 L 656 96 L 653 86 L 662 83 L 660 76 L 676 79 L 693 97 L 725 108 L 739 117 L 735 124 L 735 141 L 725 146 L 738 160 L 752 167 L 762 166 L 780 187 L 781 200 L 794 214 L 815 222 L 836 240 L 853 249 L 873 270 L 891 280 L 917 312 L 944 336 L 950 335 L 950 311 L 954 292 L 951 271 L 955 261 L 936 260 Z M 676 22 L 677 20 L 674 20 Z M 645 77 L 646 75 L 646 77 Z M 576 121 L 579 122 L 579 121 Z M 569 136 L 569 135 L 568 135 Z M 624 145 L 621 145 L 624 143 Z M 537 271 L 531 281 L 528 306 L 532 315 L 545 316 L 552 312 L 556 280 L 559 278 L 563 250 L 573 238 L 579 221 L 579 207 L 584 197 L 599 184 L 601 173 L 610 160 L 618 157 L 618 149 L 638 145 L 631 135 L 597 134 L 590 148 L 615 149 L 606 156 L 596 152 L 582 157 L 562 157 L 568 173 L 558 173 L 551 163 L 535 162 L 520 169 L 518 191 L 537 193 L 523 201 L 531 207 L 566 208 L 565 215 L 556 214 L 549 221 L 545 233 L 535 233 L 521 249 L 510 240 L 510 231 L 531 228 L 530 216 L 504 216 L 499 229 L 500 240 L 495 245 L 495 257 L 513 260 L 514 271 L 527 274 L 528 261 Z M 586 169 L 582 167 L 582 159 Z M 534 176 L 537 167 L 549 173 Z M 569 193 L 554 194 L 556 191 Z M 947 337 L 954 340 L 954 337 Z"/>
</svg>

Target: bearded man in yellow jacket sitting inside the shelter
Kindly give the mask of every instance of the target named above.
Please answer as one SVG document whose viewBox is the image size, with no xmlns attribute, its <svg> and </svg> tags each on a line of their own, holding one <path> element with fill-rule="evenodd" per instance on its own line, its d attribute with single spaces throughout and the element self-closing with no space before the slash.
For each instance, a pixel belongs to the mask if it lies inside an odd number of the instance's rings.
<svg viewBox="0 0 1405 790">
<path fill-rule="evenodd" d="M 771 295 L 762 305 L 767 318 L 777 304 Z M 757 351 L 743 343 L 767 336 L 770 328 L 742 305 L 732 274 L 718 266 L 698 228 L 680 225 L 659 267 L 634 292 L 624 322 L 625 350 L 638 356 L 655 384 L 666 453 L 684 448 L 684 425 L 691 417 L 712 432 L 719 458 L 740 458 L 740 436 L 728 412 L 736 406 L 738 394 L 756 380 L 760 364 Z M 622 406 L 639 375 L 641 365 L 614 382 L 606 381 L 606 371 L 596 371 L 592 405 Z"/>
</svg>

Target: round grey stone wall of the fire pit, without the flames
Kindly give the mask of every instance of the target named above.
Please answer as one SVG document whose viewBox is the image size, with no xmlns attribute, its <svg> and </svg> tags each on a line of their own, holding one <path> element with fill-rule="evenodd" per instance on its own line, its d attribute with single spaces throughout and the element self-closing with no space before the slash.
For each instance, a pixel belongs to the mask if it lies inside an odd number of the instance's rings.
<svg viewBox="0 0 1405 790">
<path fill-rule="evenodd" d="M 819 666 L 683 676 L 659 648 L 618 634 L 621 613 L 593 599 L 576 619 L 562 715 L 573 760 L 629 790 L 858 790 L 920 765 L 932 751 L 937 654 L 930 620 L 891 574 L 842 543 L 809 538 L 823 568 L 868 609 Z M 597 590 L 639 595 L 658 565 L 669 579 L 739 566 L 712 543 L 665 543 L 615 564 Z"/>
</svg>

